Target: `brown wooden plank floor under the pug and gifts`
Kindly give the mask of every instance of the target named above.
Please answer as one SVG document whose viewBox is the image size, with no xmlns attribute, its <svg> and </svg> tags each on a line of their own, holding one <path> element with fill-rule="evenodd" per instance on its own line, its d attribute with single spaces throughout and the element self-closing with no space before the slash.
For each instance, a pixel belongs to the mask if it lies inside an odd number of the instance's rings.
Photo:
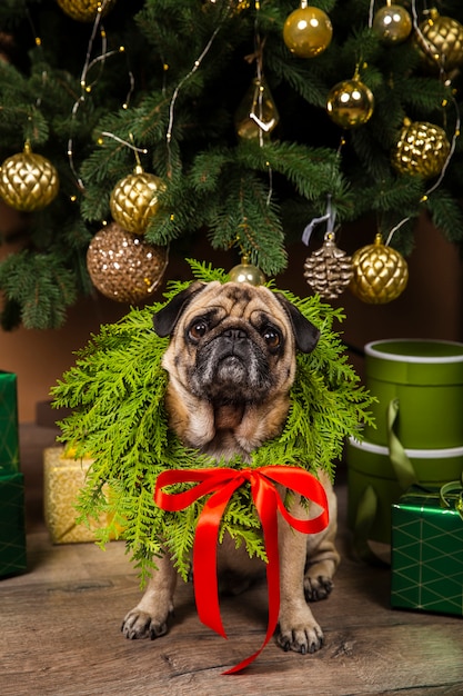
<svg viewBox="0 0 463 696">
<path fill-rule="evenodd" d="M 127 640 L 119 628 L 139 588 L 123 544 L 50 544 L 41 468 L 53 441 L 52 429 L 21 428 L 30 567 L 0 581 L 1 696 L 463 694 L 462 619 L 389 607 L 389 570 L 350 558 L 342 476 L 342 565 L 331 597 L 313 605 L 326 639 L 320 652 L 283 653 L 271 642 L 244 673 L 222 675 L 263 640 L 264 583 L 221 603 L 228 640 L 200 624 L 184 584 L 167 636 Z"/>
</svg>

